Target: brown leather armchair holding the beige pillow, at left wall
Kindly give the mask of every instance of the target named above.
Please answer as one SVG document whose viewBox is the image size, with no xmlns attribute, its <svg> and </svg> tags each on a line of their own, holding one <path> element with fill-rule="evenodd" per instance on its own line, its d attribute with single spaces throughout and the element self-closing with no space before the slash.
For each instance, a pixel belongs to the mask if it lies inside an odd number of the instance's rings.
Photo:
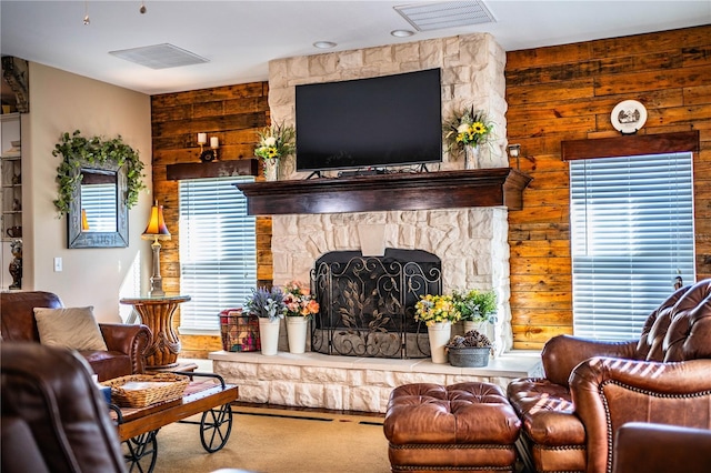
<svg viewBox="0 0 711 473">
<path fill-rule="evenodd" d="M 43 291 L 0 293 L 0 322 L 2 340 L 13 342 L 37 342 L 33 308 L 62 308 L 57 294 Z M 151 332 L 143 324 L 100 323 L 99 328 L 108 351 L 81 351 L 99 381 L 128 374 L 143 373 L 144 352 L 151 339 Z"/>
</svg>

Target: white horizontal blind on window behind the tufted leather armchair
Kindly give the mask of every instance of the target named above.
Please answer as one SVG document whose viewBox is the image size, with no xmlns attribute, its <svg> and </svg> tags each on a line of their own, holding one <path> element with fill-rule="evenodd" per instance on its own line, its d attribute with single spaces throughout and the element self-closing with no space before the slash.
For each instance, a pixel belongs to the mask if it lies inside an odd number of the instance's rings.
<svg viewBox="0 0 711 473">
<path fill-rule="evenodd" d="M 570 199 L 574 333 L 639 338 L 694 279 L 692 154 L 571 161 Z"/>
</svg>

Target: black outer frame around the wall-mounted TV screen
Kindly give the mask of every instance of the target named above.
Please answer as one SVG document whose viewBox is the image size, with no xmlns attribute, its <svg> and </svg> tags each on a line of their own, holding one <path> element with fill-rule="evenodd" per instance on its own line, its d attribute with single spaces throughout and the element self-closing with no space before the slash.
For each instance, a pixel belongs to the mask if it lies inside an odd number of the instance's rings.
<svg viewBox="0 0 711 473">
<path fill-rule="evenodd" d="M 398 162 L 380 162 L 380 163 L 359 163 L 356 165 L 348 165 L 348 164 L 343 164 L 343 165 L 327 165 L 327 167 L 300 167 L 299 165 L 299 111 L 298 111 L 298 91 L 299 88 L 318 88 L 320 85 L 331 85 L 331 84 L 343 84 L 343 83 L 359 83 L 362 81 L 379 81 L 382 79 L 392 79 L 392 78 L 400 78 L 400 77 L 407 77 L 407 76 L 411 76 L 411 74 L 428 74 L 428 73 L 437 73 L 438 77 L 438 82 L 439 82 L 439 88 L 438 88 L 438 102 L 439 102 L 439 114 L 438 114 L 438 153 L 437 157 L 433 157 L 431 159 L 414 159 L 411 161 L 398 161 Z M 423 70 L 418 70 L 418 71 L 409 71 L 409 72 L 401 72 L 401 73 L 395 73 L 395 74 L 387 74 L 387 76 L 375 76 L 375 77 L 370 77 L 370 78 L 360 78 L 360 79 L 350 79 L 350 80 L 343 80 L 343 81 L 330 81 L 330 82 L 314 82 L 314 83 L 308 83 L 308 84 L 298 84 L 296 85 L 296 91 L 294 91 L 294 109 L 296 109 L 296 114 L 294 114 L 294 122 L 296 122 L 296 129 L 297 129 L 297 151 L 296 151 L 296 159 L 294 159 L 294 167 L 296 167 L 296 171 L 297 172 L 329 172 L 329 171 L 340 171 L 340 170 L 373 170 L 373 169 L 385 169 L 385 168 L 397 168 L 397 167 L 413 167 L 413 165 L 423 165 L 423 164 L 440 164 L 443 161 L 443 152 L 442 152 L 442 93 L 441 93 L 441 83 L 442 83 L 442 69 L 441 68 L 431 68 L 431 69 L 423 69 Z"/>
</svg>

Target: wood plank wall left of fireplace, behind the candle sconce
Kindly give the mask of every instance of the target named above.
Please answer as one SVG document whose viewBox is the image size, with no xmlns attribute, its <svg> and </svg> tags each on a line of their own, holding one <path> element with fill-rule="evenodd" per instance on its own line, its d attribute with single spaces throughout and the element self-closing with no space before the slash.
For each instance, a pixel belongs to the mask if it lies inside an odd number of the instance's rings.
<svg viewBox="0 0 711 473">
<path fill-rule="evenodd" d="M 178 181 L 166 179 L 166 167 L 200 162 L 198 132 L 219 138 L 221 161 L 253 158 L 257 131 L 270 120 L 268 93 L 267 82 L 253 82 L 151 98 L 153 197 L 163 205 L 172 236 L 162 242 L 160 254 L 166 292 L 180 292 Z M 267 284 L 272 279 L 271 219 L 259 218 L 257 227 L 257 276 L 259 284 Z M 179 324 L 179 313 L 174 322 Z M 181 356 L 186 358 L 207 358 L 209 352 L 222 350 L 219 336 L 181 335 L 180 340 Z"/>
</svg>

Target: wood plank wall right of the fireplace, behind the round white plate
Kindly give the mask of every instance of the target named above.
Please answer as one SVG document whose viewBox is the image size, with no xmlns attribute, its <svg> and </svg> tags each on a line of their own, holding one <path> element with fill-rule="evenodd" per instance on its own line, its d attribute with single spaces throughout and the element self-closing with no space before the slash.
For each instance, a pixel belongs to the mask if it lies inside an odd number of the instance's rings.
<svg viewBox="0 0 711 473">
<path fill-rule="evenodd" d="M 533 178 L 523 210 L 509 213 L 514 349 L 572 333 L 569 174 L 560 142 L 619 135 L 610 112 L 622 100 L 645 105 L 639 133 L 700 131 L 697 278 L 711 276 L 711 26 L 511 51 L 505 78 L 509 143 L 521 143 L 521 170 Z"/>
</svg>

